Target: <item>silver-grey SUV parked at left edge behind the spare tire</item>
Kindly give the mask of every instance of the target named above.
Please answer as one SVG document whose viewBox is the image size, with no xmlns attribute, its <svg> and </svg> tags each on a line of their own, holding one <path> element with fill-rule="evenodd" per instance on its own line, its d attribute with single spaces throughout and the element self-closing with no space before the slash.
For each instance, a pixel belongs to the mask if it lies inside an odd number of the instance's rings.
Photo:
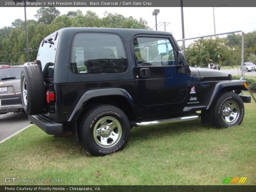
<svg viewBox="0 0 256 192">
<path fill-rule="evenodd" d="M 23 66 L 0 67 L 0 114 L 24 111 L 20 94 Z"/>
</svg>

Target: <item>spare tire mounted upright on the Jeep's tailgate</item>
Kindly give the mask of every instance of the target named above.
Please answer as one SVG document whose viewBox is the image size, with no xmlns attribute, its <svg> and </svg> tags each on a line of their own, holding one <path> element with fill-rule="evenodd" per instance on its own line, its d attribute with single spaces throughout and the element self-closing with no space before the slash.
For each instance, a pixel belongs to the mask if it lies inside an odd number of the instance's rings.
<svg viewBox="0 0 256 192">
<path fill-rule="evenodd" d="M 43 73 L 37 65 L 24 66 L 21 77 L 22 105 L 28 115 L 38 115 L 44 110 L 46 93 Z"/>
</svg>

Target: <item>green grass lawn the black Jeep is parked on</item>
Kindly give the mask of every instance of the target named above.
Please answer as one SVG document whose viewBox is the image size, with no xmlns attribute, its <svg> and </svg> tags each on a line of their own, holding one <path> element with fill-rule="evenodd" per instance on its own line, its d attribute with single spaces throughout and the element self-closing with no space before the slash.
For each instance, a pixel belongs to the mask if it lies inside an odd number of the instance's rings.
<svg viewBox="0 0 256 192">
<path fill-rule="evenodd" d="M 243 123 L 228 129 L 200 120 L 133 128 L 124 150 L 104 157 L 32 125 L 0 144 L 0 185 L 6 177 L 63 185 L 221 185 L 225 177 L 248 177 L 245 185 L 255 185 L 255 111 L 253 100 L 245 103 Z"/>
</svg>

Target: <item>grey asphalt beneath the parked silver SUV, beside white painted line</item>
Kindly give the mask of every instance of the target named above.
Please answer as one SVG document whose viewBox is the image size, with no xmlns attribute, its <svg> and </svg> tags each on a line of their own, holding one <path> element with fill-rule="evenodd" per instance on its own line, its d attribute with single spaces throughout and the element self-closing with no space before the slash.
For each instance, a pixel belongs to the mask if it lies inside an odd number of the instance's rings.
<svg viewBox="0 0 256 192">
<path fill-rule="evenodd" d="M 7 113 L 0 115 L 0 141 L 29 125 L 26 113 Z"/>
</svg>

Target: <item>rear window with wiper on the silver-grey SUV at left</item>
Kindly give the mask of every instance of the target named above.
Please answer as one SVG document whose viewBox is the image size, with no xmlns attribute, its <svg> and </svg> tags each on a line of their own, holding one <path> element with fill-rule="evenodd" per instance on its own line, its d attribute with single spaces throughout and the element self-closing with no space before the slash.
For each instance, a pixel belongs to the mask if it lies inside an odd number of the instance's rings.
<svg viewBox="0 0 256 192">
<path fill-rule="evenodd" d="M 10 81 L 20 79 L 22 67 L 3 68 L 0 69 L 0 80 Z"/>
</svg>

